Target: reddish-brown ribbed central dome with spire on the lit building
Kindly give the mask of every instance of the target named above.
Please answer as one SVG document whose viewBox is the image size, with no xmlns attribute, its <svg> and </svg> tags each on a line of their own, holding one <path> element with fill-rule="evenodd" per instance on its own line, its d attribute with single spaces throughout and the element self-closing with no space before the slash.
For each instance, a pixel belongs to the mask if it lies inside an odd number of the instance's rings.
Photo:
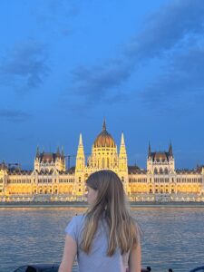
<svg viewBox="0 0 204 272">
<path fill-rule="evenodd" d="M 115 147 L 115 141 L 112 138 L 112 135 L 106 131 L 106 124 L 105 121 L 103 121 L 102 125 L 102 132 L 96 137 L 93 146 L 95 148 L 101 148 L 101 147 Z"/>
</svg>

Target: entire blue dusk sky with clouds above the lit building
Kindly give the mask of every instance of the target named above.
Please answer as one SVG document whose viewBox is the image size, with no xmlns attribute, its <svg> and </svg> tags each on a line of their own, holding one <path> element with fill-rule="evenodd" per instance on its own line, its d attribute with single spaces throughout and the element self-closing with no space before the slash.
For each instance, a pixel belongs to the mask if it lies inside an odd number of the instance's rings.
<svg viewBox="0 0 204 272">
<path fill-rule="evenodd" d="M 80 132 L 88 154 L 105 117 L 129 164 L 149 141 L 204 164 L 203 0 L 2 0 L 0 17 L 0 160 L 73 155 Z"/>
</svg>

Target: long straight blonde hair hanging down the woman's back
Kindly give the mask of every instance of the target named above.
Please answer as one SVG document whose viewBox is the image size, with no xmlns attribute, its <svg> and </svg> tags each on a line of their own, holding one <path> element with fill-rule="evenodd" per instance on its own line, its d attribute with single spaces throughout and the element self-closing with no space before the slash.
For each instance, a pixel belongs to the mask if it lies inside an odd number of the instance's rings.
<svg viewBox="0 0 204 272">
<path fill-rule="evenodd" d="M 104 217 L 109 227 L 107 255 L 111 257 L 116 248 L 121 249 L 121 254 L 128 252 L 138 243 L 139 229 L 127 208 L 120 178 L 111 170 L 101 170 L 94 172 L 86 183 L 98 194 L 86 213 L 81 244 L 83 251 L 90 253 L 99 220 Z"/>
</svg>

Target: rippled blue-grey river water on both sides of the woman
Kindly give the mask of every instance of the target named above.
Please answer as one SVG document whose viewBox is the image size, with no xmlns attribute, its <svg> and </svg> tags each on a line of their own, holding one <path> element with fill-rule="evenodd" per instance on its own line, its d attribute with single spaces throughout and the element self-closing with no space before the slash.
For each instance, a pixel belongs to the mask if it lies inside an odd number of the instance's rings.
<svg viewBox="0 0 204 272">
<path fill-rule="evenodd" d="M 0 271 L 27 263 L 60 263 L 64 228 L 85 209 L 0 209 Z M 188 272 L 204 264 L 204 209 L 134 208 L 143 236 L 142 265 Z"/>
</svg>

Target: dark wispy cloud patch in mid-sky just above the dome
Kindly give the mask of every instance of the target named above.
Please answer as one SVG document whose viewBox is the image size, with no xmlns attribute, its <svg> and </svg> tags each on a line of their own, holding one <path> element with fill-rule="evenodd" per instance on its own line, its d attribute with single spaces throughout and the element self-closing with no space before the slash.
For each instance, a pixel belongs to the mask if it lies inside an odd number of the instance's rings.
<svg viewBox="0 0 204 272">
<path fill-rule="evenodd" d="M 73 90 L 77 95 L 83 96 L 90 102 L 101 102 L 112 99 L 116 101 L 125 95 L 121 93 L 120 86 L 125 82 L 131 73 L 131 66 L 124 63 L 110 63 L 107 66 L 95 66 L 92 69 L 79 67 L 72 73 Z M 110 92 L 112 88 L 112 92 Z"/>
</svg>

